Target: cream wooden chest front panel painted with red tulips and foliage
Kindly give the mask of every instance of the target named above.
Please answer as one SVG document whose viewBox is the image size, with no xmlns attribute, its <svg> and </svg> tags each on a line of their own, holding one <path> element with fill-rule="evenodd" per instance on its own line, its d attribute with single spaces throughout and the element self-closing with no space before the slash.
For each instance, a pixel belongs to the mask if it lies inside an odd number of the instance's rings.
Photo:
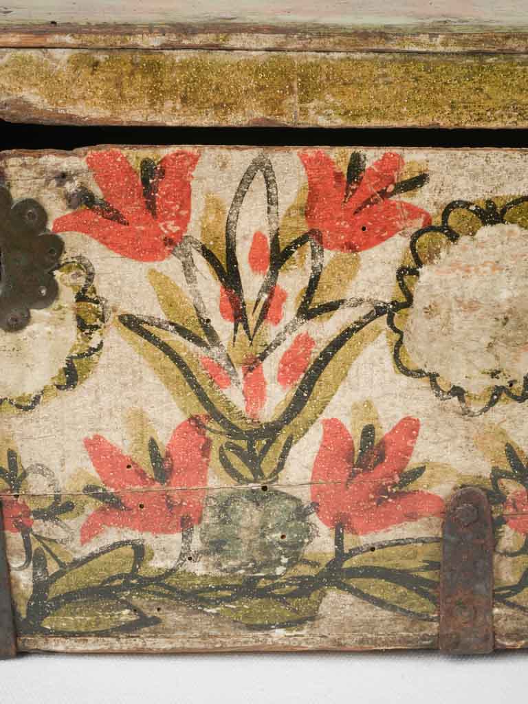
<svg viewBox="0 0 528 704">
<path fill-rule="evenodd" d="M 64 243 L 54 303 L 0 320 L 18 647 L 435 648 L 467 485 L 526 646 L 526 158 L 1 155 L 2 227 Z"/>
</svg>

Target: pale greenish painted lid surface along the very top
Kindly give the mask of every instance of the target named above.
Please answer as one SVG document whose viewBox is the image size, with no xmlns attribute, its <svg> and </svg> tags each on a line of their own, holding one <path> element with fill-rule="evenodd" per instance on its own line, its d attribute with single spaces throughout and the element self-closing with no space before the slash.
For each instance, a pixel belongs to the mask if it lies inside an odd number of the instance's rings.
<svg viewBox="0 0 528 704">
<path fill-rule="evenodd" d="M 525 8 L 520 0 L 472 0 L 460 4 L 455 0 L 433 0 L 422 4 L 419 0 L 402 0 L 394 10 L 386 11 L 375 0 L 349 3 L 329 0 L 323 6 L 313 1 L 270 0 L 263 5 L 258 0 L 240 0 L 232 6 L 225 0 L 194 0 L 192 4 L 175 6 L 171 0 L 156 0 L 141 6 L 133 0 L 124 0 L 118 6 L 113 0 L 65 0 L 57 5 L 53 0 L 34 0 L 31 3 L 5 0 L 2 13 L 7 23 L 57 22 L 92 23 L 94 18 L 107 23 L 161 23 L 179 19 L 186 23 L 225 20 L 231 23 L 317 23 L 344 27 L 422 26 L 434 22 L 461 22 L 478 27 L 491 25 L 508 27 L 526 21 Z"/>
</svg>

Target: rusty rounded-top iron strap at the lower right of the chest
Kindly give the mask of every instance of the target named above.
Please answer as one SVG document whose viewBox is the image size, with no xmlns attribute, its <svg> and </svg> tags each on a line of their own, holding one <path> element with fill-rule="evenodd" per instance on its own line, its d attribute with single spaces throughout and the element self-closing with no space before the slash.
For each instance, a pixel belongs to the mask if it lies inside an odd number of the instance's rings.
<svg viewBox="0 0 528 704">
<path fill-rule="evenodd" d="M 442 553 L 439 648 L 451 655 L 491 653 L 494 536 L 481 489 L 460 489 L 451 498 Z"/>
</svg>

